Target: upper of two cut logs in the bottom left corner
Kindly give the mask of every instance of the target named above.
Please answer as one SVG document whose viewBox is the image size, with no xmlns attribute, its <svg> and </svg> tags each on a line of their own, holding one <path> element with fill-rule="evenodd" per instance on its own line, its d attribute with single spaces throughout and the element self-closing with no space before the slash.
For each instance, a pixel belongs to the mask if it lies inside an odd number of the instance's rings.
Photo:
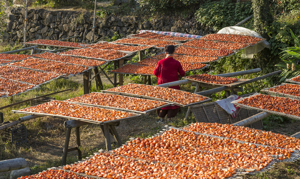
<svg viewBox="0 0 300 179">
<path fill-rule="evenodd" d="M 19 170 L 27 167 L 27 162 L 23 158 L 0 161 L 0 172 Z"/>
</svg>

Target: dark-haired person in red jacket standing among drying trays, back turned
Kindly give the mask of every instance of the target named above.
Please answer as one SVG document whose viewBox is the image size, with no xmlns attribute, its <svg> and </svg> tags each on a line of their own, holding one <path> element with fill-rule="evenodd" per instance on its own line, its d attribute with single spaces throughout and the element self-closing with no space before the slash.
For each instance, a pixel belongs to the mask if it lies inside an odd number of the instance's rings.
<svg viewBox="0 0 300 179">
<path fill-rule="evenodd" d="M 154 75 L 158 77 L 157 85 L 178 81 L 178 74 L 182 77 L 185 76 L 182 66 L 179 61 L 173 58 L 175 51 L 174 45 L 165 46 L 166 58 L 158 62 L 154 69 Z M 172 89 L 180 89 L 179 86 L 169 87 Z M 156 122 L 164 122 L 165 116 L 168 121 L 175 117 L 180 109 L 178 105 L 170 105 L 157 110 L 157 115 L 160 117 Z"/>
</svg>

